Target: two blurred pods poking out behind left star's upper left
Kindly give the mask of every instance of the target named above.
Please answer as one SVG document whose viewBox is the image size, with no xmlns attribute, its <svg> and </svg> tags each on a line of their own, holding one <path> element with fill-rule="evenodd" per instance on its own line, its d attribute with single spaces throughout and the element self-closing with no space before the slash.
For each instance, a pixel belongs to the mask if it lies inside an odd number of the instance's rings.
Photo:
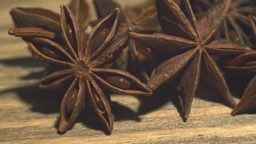
<svg viewBox="0 0 256 144">
<path fill-rule="evenodd" d="M 69 8 L 84 28 L 88 26 L 91 8 L 85 0 L 71 0 Z M 43 8 L 21 8 L 11 9 L 10 15 L 16 28 L 38 27 L 47 31 L 61 34 L 60 15 L 51 10 Z"/>
</svg>

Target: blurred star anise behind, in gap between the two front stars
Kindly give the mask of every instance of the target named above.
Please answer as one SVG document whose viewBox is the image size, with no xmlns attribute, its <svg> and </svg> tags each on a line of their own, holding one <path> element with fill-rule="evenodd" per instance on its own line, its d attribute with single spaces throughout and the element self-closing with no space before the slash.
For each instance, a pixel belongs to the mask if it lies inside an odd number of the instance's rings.
<svg viewBox="0 0 256 144">
<path fill-rule="evenodd" d="M 100 19 L 109 14 L 114 8 L 119 8 L 121 10 L 120 29 L 131 27 L 131 31 L 138 33 L 161 31 L 154 3 L 154 0 L 150 0 L 137 7 L 123 8 L 114 0 L 94 0 L 97 14 Z M 125 49 L 123 55 L 121 55 L 114 67 L 127 70 L 141 81 L 147 82 L 148 74 L 150 74 L 154 68 L 153 59 L 153 54 L 147 47 L 136 44 L 131 40 L 129 47 Z M 143 63 L 147 64 L 144 65 Z"/>
</svg>

